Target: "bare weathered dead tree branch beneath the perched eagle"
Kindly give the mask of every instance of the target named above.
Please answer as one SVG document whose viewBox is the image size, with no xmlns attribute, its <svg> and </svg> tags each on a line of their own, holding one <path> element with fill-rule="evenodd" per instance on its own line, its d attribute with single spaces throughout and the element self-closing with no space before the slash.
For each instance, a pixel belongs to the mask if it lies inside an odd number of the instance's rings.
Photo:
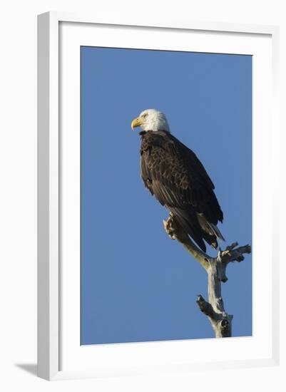
<svg viewBox="0 0 286 392">
<path fill-rule="evenodd" d="M 171 213 L 168 220 L 163 221 L 163 224 L 170 238 L 177 239 L 208 273 L 208 301 L 205 301 L 203 296 L 198 295 L 197 304 L 200 311 L 208 316 L 215 331 L 215 337 L 232 336 L 233 315 L 225 311 L 221 294 L 221 282 L 225 283 L 228 280 L 226 276 L 228 264 L 230 262 L 242 262 L 245 258 L 244 254 L 251 252 L 250 245 L 238 247 L 238 243 L 235 242 L 226 247 L 225 250 L 220 249 L 217 257 L 210 257 L 193 243 Z"/>
</svg>

